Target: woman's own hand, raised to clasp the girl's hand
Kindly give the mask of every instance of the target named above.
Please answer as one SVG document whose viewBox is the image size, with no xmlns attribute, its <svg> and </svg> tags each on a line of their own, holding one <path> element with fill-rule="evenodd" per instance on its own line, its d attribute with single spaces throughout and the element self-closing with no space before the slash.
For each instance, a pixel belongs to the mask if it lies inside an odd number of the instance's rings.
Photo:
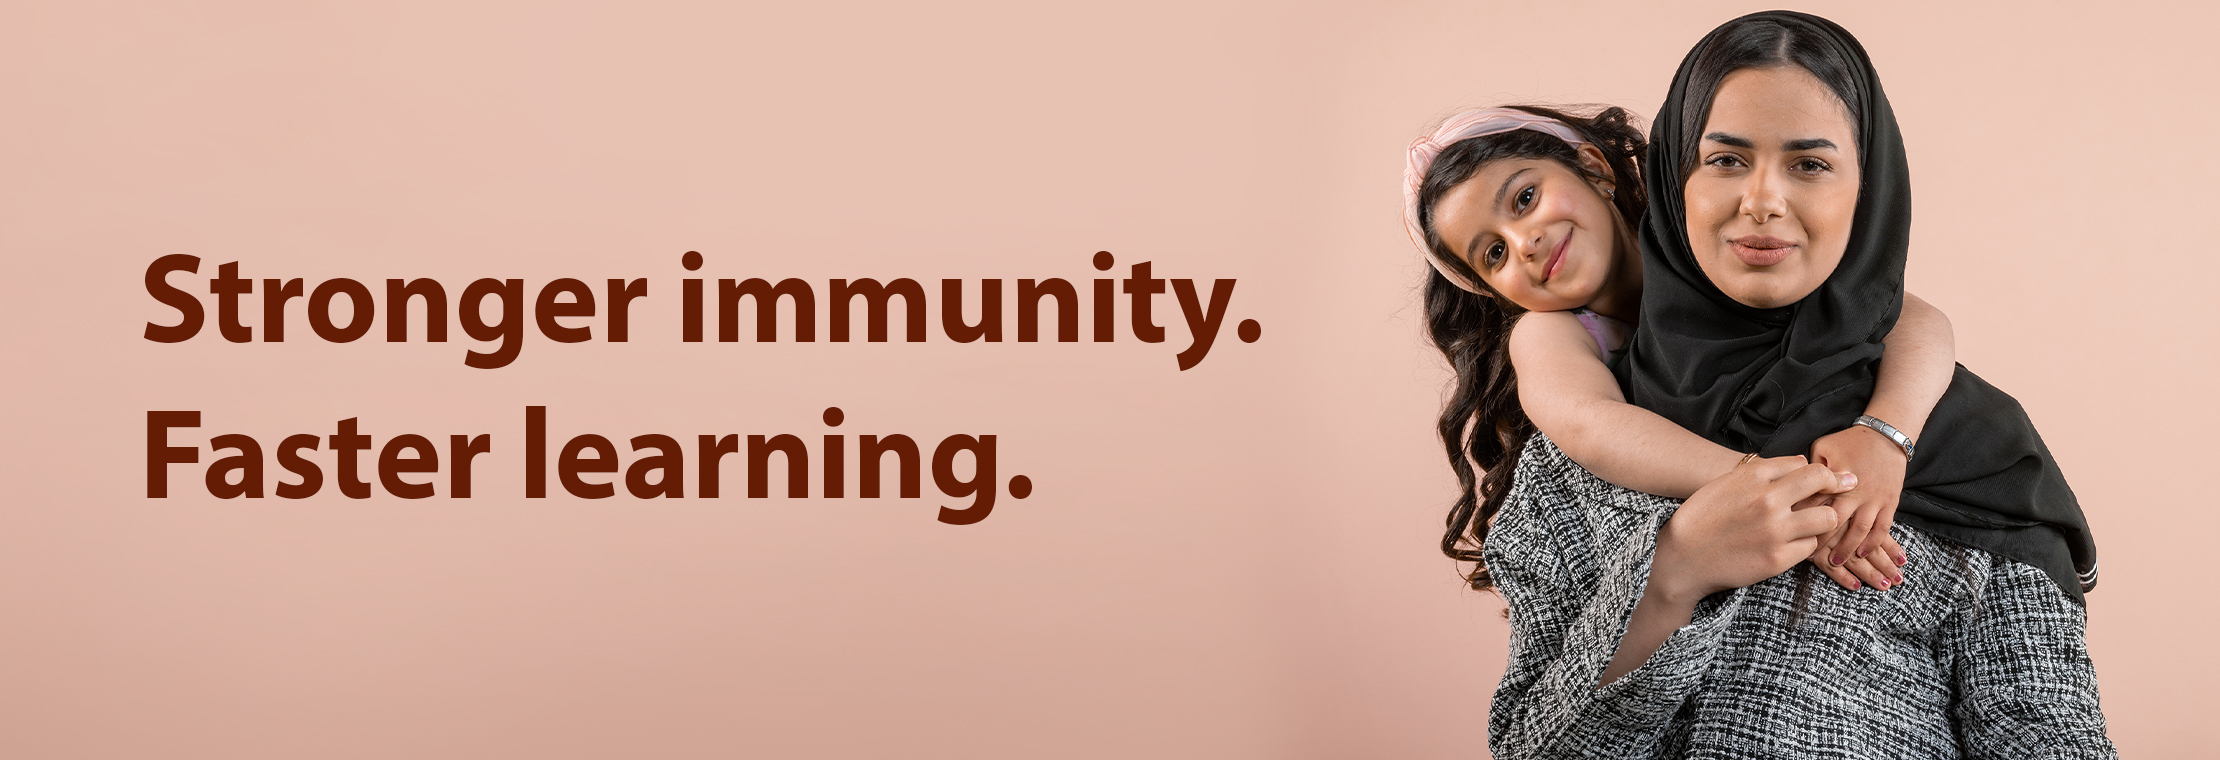
<svg viewBox="0 0 2220 760">
<path fill-rule="evenodd" d="M 1665 520 L 1649 591 L 1696 600 L 1780 576 L 1818 549 L 1840 518 L 1825 502 L 1858 484 L 1800 456 L 1754 460 L 1712 480 Z"/>
</svg>

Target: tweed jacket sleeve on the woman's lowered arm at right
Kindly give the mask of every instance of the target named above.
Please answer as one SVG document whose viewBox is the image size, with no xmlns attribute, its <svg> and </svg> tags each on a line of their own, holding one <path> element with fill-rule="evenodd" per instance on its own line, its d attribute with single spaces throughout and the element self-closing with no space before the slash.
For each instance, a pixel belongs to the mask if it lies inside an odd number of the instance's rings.
<svg viewBox="0 0 2220 760">
<path fill-rule="evenodd" d="M 2031 564 L 1989 564 L 1971 604 L 1943 627 L 1960 749 L 1967 758 L 2118 758 L 2098 709 L 2087 611 Z"/>
</svg>

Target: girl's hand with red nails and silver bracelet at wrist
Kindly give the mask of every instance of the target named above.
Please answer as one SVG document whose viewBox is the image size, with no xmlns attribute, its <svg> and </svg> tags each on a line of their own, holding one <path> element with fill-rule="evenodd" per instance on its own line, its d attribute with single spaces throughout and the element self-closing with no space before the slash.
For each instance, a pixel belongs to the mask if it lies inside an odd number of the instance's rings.
<svg viewBox="0 0 2220 760">
<path fill-rule="evenodd" d="M 1889 524 L 1896 522 L 1896 500 L 1905 493 L 1905 449 L 1869 427 L 1851 424 L 1814 440 L 1812 460 L 1858 476 L 1858 489 L 1834 498 L 1834 511 L 1843 520 L 1834 536 L 1820 540 L 1812 564 L 1845 589 L 1856 589 L 1851 576 L 1876 589 L 1900 584 L 1905 549 L 1889 538 Z"/>
</svg>

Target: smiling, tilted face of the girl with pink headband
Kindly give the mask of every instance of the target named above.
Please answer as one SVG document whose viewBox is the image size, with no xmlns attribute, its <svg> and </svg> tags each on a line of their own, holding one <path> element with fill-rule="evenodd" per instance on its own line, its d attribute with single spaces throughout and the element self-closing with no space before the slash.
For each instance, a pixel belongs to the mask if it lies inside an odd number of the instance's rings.
<svg viewBox="0 0 2220 760">
<path fill-rule="evenodd" d="M 1603 153 L 1581 162 L 1607 176 Z M 1547 158 L 1499 160 L 1434 202 L 1434 233 L 1496 293 L 1527 311 L 1585 307 L 1612 280 L 1623 227 L 1605 191 Z"/>
</svg>

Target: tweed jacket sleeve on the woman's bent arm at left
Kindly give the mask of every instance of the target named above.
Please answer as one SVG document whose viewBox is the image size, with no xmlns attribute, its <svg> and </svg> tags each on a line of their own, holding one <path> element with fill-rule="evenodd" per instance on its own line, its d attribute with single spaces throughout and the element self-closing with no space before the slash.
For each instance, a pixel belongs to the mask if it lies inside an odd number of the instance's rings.
<svg viewBox="0 0 2220 760">
<path fill-rule="evenodd" d="M 1510 607 L 1510 662 L 1487 740 L 1496 758 L 1652 758 L 1703 684 L 1745 589 L 1716 593 L 1641 669 L 1598 689 L 1678 507 L 1527 449 L 1483 558 Z"/>
</svg>

